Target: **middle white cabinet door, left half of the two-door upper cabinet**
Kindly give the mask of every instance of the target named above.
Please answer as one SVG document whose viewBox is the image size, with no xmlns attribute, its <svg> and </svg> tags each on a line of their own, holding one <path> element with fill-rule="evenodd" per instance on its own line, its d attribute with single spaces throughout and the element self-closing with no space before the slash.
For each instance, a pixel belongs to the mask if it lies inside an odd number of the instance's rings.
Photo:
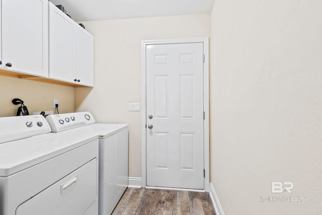
<svg viewBox="0 0 322 215">
<path fill-rule="evenodd" d="M 49 3 L 49 77 L 74 83 L 73 21 Z"/>
</svg>

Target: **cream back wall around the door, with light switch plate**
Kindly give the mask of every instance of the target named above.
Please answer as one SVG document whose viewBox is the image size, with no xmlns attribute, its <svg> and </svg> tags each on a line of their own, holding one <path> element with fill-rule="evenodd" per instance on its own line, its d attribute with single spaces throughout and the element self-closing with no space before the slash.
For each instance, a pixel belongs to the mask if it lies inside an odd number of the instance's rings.
<svg viewBox="0 0 322 215">
<path fill-rule="evenodd" d="M 210 36 L 210 14 L 82 22 L 95 37 L 95 87 L 75 89 L 75 110 L 129 124 L 129 176 L 141 177 L 141 40 Z"/>
</svg>

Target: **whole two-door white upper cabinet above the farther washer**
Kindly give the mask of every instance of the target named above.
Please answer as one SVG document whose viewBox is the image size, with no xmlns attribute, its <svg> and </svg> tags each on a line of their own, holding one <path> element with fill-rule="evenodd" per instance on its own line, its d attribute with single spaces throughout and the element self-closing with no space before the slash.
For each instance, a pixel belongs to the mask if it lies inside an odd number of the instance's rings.
<svg viewBox="0 0 322 215">
<path fill-rule="evenodd" d="M 94 37 L 49 3 L 49 78 L 94 86 Z"/>
</svg>

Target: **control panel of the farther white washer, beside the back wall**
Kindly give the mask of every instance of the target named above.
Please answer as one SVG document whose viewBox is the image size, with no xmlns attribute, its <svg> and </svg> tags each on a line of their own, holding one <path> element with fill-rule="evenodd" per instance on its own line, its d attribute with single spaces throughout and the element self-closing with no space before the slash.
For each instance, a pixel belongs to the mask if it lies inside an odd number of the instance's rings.
<svg viewBox="0 0 322 215">
<path fill-rule="evenodd" d="M 89 111 L 48 115 L 46 120 L 51 127 L 51 132 L 54 133 L 96 122 Z"/>
</svg>

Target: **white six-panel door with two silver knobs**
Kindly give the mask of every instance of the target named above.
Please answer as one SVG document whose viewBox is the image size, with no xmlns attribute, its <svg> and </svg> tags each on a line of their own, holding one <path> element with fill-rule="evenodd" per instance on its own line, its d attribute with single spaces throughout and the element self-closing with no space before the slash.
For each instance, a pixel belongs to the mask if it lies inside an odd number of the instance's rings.
<svg viewBox="0 0 322 215">
<path fill-rule="evenodd" d="M 203 43 L 146 46 L 146 185 L 204 189 Z"/>
</svg>

